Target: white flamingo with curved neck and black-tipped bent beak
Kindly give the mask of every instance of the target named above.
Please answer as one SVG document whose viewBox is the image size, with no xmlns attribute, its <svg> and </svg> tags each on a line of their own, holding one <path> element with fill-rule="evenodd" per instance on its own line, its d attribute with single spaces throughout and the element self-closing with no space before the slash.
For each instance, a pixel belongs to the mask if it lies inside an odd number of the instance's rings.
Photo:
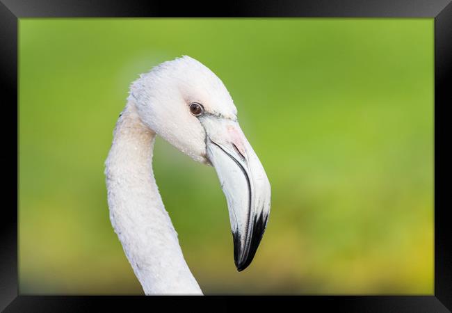
<svg viewBox="0 0 452 313">
<path fill-rule="evenodd" d="M 105 161 L 111 224 L 145 295 L 202 295 L 154 178 L 157 135 L 215 168 L 238 271 L 250 265 L 266 229 L 271 186 L 241 131 L 232 97 L 208 67 L 181 56 L 131 83 Z"/>
</svg>

